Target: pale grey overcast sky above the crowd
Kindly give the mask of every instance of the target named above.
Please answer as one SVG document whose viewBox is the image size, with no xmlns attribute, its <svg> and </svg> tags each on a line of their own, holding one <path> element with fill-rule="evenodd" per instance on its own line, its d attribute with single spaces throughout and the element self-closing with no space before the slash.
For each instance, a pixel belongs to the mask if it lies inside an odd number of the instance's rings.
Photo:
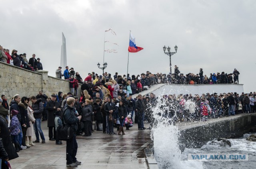
<svg viewBox="0 0 256 169">
<path fill-rule="evenodd" d="M 169 73 L 172 65 L 182 73 L 240 72 L 244 91 L 255 91 L 255 0 L 1 0 L 0 45 L 27 58 L 36 54 L 44 70 L 55 77 L 60 65 L 62 32 L 67 62 L 84 79 L 102 73 L 104 31 L 106 71 L 126 74 L 129 32 L 144 50 L 130 53 L 129 73 Z"/>
</svg>

